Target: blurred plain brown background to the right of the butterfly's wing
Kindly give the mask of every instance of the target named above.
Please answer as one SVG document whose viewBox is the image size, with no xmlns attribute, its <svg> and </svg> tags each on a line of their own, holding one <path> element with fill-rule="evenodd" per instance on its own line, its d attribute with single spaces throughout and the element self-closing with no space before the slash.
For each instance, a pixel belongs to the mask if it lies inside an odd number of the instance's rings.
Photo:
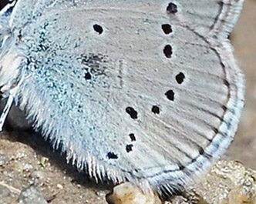
<svg viewBox="0 0 256 204">
<path fill-rule="evenodd" d="M 256 1 L 245 0 L 244 9 L 231 34 L 234 55 L 246 77 L 245 107 L 234 142 L 227 151 L 231 159 L 256 169 Z"/>
</svg>

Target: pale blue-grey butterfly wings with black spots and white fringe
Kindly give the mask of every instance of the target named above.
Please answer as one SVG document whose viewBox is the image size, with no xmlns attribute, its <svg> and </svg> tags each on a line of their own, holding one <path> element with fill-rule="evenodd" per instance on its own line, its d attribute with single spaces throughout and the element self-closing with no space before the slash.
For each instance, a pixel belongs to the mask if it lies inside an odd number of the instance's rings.
<svg viewBox="0 0 256 204">
<path fill-rule="evenodd" d="M 96 180 L 171 195 L 237 130 L 244 77 L 227 35 L 242 2 L 19 0 L 2 91 Z"/>
</svg>

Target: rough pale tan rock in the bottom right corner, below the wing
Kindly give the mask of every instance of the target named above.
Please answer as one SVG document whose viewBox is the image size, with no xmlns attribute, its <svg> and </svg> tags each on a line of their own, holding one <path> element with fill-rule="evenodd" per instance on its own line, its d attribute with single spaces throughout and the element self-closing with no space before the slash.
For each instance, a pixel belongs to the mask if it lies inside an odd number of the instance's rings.
<svg viewBox="0 0 256 204">
<path fill-rule="evenodd" d="M 204 204 L 256 204 L 256 172 L 240 162 L 219 161 L 184 192 L 186 202 Z M 179 196 L 171 203 L 180 203 Z M 195 202 L 190 202 L 194 200 Z"/>
</svg>

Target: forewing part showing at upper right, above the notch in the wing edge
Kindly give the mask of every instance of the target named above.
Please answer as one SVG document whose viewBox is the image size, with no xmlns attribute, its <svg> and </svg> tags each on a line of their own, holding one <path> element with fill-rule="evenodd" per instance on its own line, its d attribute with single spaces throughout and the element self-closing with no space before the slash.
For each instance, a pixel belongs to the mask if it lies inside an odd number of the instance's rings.
<svg viewBox="0 0 256 204">
<path fill-rule="evenodd" d="M 227 37 L 237 22 L 243 0 L 173 1 L 176 17 L 200 35 Z"/>
</svg>

